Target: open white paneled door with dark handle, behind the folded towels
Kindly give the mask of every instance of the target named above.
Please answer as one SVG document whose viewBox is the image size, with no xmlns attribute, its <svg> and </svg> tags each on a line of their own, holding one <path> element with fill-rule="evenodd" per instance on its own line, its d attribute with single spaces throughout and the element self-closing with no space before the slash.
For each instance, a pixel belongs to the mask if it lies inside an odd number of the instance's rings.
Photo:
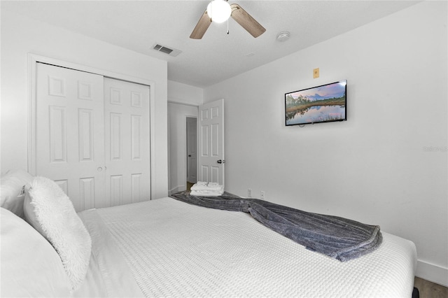
<svg viewBox="0 0 448 298">
<path fill-rule="evenodd" d="M 199 107 L 199 180 L 224 185 L 224 99 Z"/>
</svg>

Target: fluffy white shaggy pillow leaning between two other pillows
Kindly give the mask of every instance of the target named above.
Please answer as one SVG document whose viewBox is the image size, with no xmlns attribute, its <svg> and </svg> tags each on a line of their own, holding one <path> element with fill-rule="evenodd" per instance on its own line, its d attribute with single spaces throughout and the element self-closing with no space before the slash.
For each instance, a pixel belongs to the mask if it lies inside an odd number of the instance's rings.
<svg viewBox="0 0 448 298">
<path fill-rule="evenodd" d="M 53 180 L 36 177 L 25 192 L 25 218 L 55 248 L 72 290 L 83 283 L 92 240 L 69 197 Z"/>
</svg>

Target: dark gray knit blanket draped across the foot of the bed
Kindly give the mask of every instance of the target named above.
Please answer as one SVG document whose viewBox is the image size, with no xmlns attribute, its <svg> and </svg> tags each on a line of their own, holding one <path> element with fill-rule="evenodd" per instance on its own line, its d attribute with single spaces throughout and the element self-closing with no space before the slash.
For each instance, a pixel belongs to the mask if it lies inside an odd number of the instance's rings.
<svg viewBox="0 0 448 298">
<path fill-rule="evenodd" d="M 178 192 L 171 197 L 198 206 L 249 213 L 269 229 L 342 262 L 372 252 L 382 241 L 377 225 L 309 213 L 260 199 L 244 199 L 228 192 L 220 197 L 195 197 L 189 192 Z"/>
</svg>

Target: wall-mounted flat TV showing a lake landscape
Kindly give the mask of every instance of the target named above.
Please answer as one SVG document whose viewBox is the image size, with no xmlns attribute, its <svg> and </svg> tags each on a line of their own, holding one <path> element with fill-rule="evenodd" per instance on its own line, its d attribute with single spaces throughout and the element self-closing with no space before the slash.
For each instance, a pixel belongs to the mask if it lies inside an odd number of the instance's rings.
<svg viewBox="0 0 448 298">
<path fill-rule="evenodd" d="M 286 126 L 347 120 L 346 95 L 346 80 L 286 93 Z"/>
</svg>

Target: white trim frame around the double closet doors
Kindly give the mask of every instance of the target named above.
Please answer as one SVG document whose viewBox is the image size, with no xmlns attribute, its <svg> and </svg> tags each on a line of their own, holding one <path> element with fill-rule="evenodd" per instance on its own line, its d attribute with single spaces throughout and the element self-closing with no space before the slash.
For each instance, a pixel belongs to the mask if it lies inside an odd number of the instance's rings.
<svg viewBox="0 0 448 298">
<path fill-rule="evenodd" d="M 85 66 L 81 64 L 75 64 L 71 62 L 66 62 L 59 59 L 53 59 L 50 57 L 35 55 L 32 53 L 28 54 L 28 82 L 27 82 L 27 92 L 28 92 L 28 172 L 31 175 L 36 175 L 36 78 L 37 78 L 37 66 L 38 62 L 45 64 L 52 64 L 55 66 L 65 67 L 68 69 L 75 69 L 77 71 L 85 71 L 88 73 L 95 73 L 101 76 L 116 78 L 118 80 L 125 80 L 131 83 L 138 83 L 141 85 L 148 85 L 150 87 L 150 100 L 149 100 L 149 121 L 150 121 L 150 176 L 151 176 L 151 199 L 154 196 L 155 187 L 154 181 L 156 177 L 155 167 L 151 166 L 155 160 L 155 82 L 153 80 L 146 80 L 144 78 L 136 78 L 134 76 L 128 76 L 123 73 L 115 73 L 113 71 L 106 71 L 104 69 L 97 69 L 90 66 Z"/>
</svg>

